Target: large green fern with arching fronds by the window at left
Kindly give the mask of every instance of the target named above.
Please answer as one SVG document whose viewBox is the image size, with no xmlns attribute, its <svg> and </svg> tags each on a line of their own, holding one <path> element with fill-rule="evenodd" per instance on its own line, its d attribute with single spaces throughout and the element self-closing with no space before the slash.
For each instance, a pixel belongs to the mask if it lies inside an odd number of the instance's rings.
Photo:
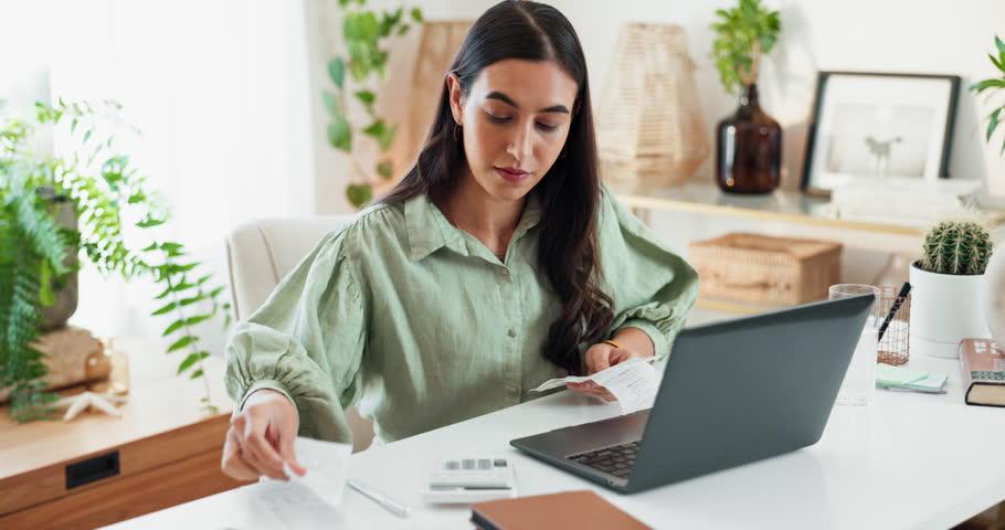
<svg viewBox="0 0 1005 530">
<path fill-rule="evenodd" d="M 136 226 L 152 234 L 168 220 L 168 210 L 129 158 L 114 151 L 114 136 L 102 132 L 109 124 L 125 126 L 118 119 L 120 109 L 114 102 L 60 99 L 52 106 L 36 104 L 28 118 L 0 124 L 0 388 L 12 389 L 14 421 L 50 417 L 54 412 L 51 403 L 56 396 L 42 391 L 43 354 L 32 344 L 39 336 L 38 308 L 52 304 L 53 283 L 73 272 L 64 265 L 67 250 L 105 275 L 147 277 L 165 286 L 157 298 L 168 304 L 154 315 L 174 316 L 162 333 L 173 338 L 168 353 L 188 352 L 178 374 L 202 378 L 202 406 L 215 412 L 201 367 L 209 353 L 200 349 L 193 326 L 220 312 L 229 326 L 230 304 L 221 301 L 223 287 L 210 287 L 212 274 L 200 274 L 202 263 L 188 258 L 180 243 L 151 237 L 154 243 L 141 250 L 126 245 L 127 211 L 139 216 Z M 65 157 L 36 152 L 33 139 L 40 128 L 50 126 L 67 128 L 80 148 Z M 80 229 L 59 226 L 52 202 L 38 190 L 71 201 Z"/>
</svg>

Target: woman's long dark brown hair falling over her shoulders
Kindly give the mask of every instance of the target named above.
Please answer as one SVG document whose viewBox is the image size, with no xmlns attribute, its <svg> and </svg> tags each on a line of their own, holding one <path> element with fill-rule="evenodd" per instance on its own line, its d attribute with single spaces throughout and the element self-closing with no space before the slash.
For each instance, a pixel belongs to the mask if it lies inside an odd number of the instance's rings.
<svg viewBox="0 0 1005 530">
<path fill-rule="evenodd" d="M 542 205 L 538 259 L 564 303 L 562 314 L 551 325 L 542 354 L 579 373 L 580 344 L 603 337 L 614 318 L 614 303 L 600 287 L 600 177 L 586 60 L 575 30 L 557 9 L 506 0 L 475 21 L 449 72 L 457 74 L 467 95 L 483 68 L 507 59 L 554 61 L 579 86 L 578 110 L 570 124 L 565 155 L 556 160 L 537 186 Z M 464 147 L 454 139 L 454 127 L 449 91 L 444 83 L 433 126 L 415 166 L 381 202 L 402 203 L 423 193 L 436 197 L 449 189 L 465 163 Z"/>
</svg>

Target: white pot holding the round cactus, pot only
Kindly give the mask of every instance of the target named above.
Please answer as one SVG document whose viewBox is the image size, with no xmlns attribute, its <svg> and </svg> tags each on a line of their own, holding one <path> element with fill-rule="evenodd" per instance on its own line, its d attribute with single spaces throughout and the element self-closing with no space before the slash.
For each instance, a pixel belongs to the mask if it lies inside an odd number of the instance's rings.
<svg viewBox="0 0 1005 530">
<path fill-rule="evenodd" d="M 911 351 L 955 358 L 963 339 L 991 337 L 984 275 L 930 273 L 911 265 Z"/>
</svg>

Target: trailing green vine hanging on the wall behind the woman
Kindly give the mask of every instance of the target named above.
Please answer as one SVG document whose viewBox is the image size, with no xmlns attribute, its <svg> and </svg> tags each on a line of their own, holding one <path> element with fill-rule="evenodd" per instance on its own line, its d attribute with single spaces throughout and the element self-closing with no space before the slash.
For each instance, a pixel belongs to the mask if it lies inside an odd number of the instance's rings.
<svg viewBox="0 0 1005 530">
<path fill-rule="evenodd" d="M 335 84 L 335 92 L 325 91 L 325 105 L 331 121 L 328 124 L 328 144 L 342 151 L 352 166 L 355 176 L 346 186 L 346 198 L 361 208 L 373 198 L 373 182 L 379 179 L 391 180 L 394 168 L 383 157 L 391 148 L 398 132 L 396 125 L 389 125 L 377 115 L 377 86 L 387 80 L 388 51 L 382 49 L 389 39 L 404 35 L 411 25 L 404 20 L 404 8 L 378 12 L 364 9 L 367 0 L 339 0 L 345 20 L 342 39 L 346 42 L 347 55 L 336 55 L 328 62 L 328 77 Z M 412 22 L 422 23 L 422 11 L 413 8 L 410 11 Z M 346 76 L 349 72 L 349 78 Z M 351 94 L 351 99 L 350 95 Z M 350 117 L 350 102 L 356 102 L 366 113 L 367 125 L 361 132 L 377 141 L 381 152 L 375 172 L 372 177 L 363 169 L 353 150 L 353 128 Z M 359 125 L 359 124 L 357 124 Z"/>
</svg>

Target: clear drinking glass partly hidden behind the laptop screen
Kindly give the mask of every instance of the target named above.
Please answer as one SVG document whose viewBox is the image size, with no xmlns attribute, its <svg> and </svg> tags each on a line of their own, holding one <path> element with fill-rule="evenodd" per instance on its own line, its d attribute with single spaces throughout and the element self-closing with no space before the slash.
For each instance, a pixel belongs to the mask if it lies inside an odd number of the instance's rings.
<svg viewBox="0 0 1005 530">
<path fill-rule="evenodd" d="M 875 295 L 876 300 L 872 303 L 866 326 L 858 337 L 851 363 L 848 365 L 848 371 L 845 372 L 840 391 L 837 393 L 837 404 L 839 405 L 868 405 L 876 393 L 876 348 L 880 320 L 880 293 L 877 287 L 860 284 L 832 285 L 828 293 L 828 298 L 832 300 L 869 294 Z"/>
</svg>

